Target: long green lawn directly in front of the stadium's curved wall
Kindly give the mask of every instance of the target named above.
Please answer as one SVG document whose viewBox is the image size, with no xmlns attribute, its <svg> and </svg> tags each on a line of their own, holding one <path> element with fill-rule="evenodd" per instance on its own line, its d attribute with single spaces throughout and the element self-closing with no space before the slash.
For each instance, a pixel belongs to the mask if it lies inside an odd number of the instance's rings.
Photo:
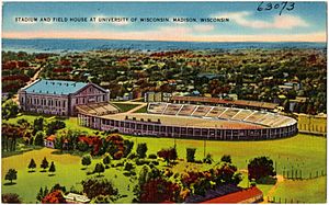
<svg viewBox="0 0 329 205">
<path fill-rule="evenodd" d="M 174 139 L 125 136 L 136 143 L 147 143 L 148 155 L 156 153 L 161 148 L 173 147 Z M 203 159 L 204 141 L 192 139 L 175 139 L 179 158 L 185 159 L 186 148 L 196 148 L 195 158 Z M 297 135 L 287 139 L 264 141 L 206 141 L 206 153 L 211 153 L 215 161 L 223 155 L 230 155 L 232 163 L 238 169 L 247 169 L 249 160 L 259 156 L 268 156 L 276 163 L 279 174 L 283 170 L 300 169 L 303 176 L 309 172 L 326 171 L 327 139 L 307 135 Z"/>
</svg>

